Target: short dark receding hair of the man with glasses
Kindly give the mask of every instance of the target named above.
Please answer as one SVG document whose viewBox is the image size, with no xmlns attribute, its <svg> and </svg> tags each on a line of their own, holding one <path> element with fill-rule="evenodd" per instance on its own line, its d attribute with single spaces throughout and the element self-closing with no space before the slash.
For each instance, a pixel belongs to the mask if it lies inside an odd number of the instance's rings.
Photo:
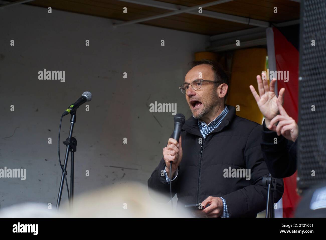
<svg viewBox="0 0 326 240">
<path fill-rule="evenodd" d="M 220 83 L 225 83 L 229 86 L 229 77 L 227 73 L 224 71 L 222 65 L 218 63 L 215 60 L 208 60 L 208 59 L 201 59 L 201 60 L 195 60 L 189 63 L 191 65 L 191 68 L 200 65 L 200 64 L 208 64 L 212 66 L 212 70 L 214 72 L 214 81 L 219 81 Z M 218 87 L 220 84 L 215 83 L 215 86 Z M 228 92 L 226 93 L 224 100 L 226 100 L 228 96 Z"/>
</svg>

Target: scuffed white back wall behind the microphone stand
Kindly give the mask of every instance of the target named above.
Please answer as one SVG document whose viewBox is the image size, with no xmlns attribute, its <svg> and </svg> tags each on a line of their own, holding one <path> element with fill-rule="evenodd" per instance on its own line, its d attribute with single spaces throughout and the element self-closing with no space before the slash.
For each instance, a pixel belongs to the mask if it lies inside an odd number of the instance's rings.
<svg viewBox="0 0 326 240">
<path fill-rule="evenodd" d="M 60 116 L 84 91 L 93 100 L 89 112 L 85 105 L 77 111 L 75 194 L 129 180 L 147 184 L 173 130 L 171 113 L 150 113 L 148 105 L 176 103 L 178 113 L 190 116 L 178 86 L 208 36 L 142 24 L 113 28 L 110 19 L 28 5 L 0 10 L 0 168 L 26 168 L 25 181 L 0 178 L 0 206 L 55 204 Z M 44 68 L 66 71 L 66 81 L 39 80 Z M 62 161 L 69 119 L 63 119 Z"/>
</svg>

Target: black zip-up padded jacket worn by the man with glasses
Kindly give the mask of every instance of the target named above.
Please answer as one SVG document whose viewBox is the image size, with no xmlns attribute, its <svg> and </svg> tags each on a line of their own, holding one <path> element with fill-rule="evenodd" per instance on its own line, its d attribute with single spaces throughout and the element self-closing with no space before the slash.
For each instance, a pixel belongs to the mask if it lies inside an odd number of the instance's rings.
<svg viewBox="0 0 326 240">
<path fill-rule="evenodd" d="M 177 194 L 177 207 L 202 202 L 208 196 L 222 197 L 230 217 L 256 217 L 266 209 L 267 187 L 262 185 L 262 177 L 269 173 L 260 149 L 262 126 L 236 116 L 233 106 L 227 107 L 228 114 L 206 139 L 200 134 L 197 119 L 185 121 L 181 132 L 183 157 L 172 182 L 172 195 Z M 170 186 L 161 174 L 165 166 L 162 158 L 148 179 L 148 187 L 150 192 L 153 189 L 170 196 Z M 230 167 L 250 169 L 250 180 L 225 177 L 224 169 Z M 277 179 L 274 202 L 282 194 L 283 180 Z"/>
</svg>

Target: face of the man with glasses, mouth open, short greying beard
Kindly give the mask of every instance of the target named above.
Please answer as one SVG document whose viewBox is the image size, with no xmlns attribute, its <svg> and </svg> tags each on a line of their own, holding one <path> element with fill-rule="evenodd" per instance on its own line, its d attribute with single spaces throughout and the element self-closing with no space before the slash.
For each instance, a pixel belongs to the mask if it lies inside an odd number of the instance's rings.
<svg viewBox="0 0 326 240">
<path fill-rule="evenodd" d="M 214 81 L 212 66 L 208 64 L 200 64 L 190 69 L 190 71 L 185 75 L 185 83 L 191 83 L 197 79 Z M 198 90 L 194 90 L 189 86 L 185 95 L 191 114 L 195 119 L 204 117 L 213 109 L 213 107 L 221 104 L 214 83 L 202 82 L 201 88 Z"/>
</svg>

